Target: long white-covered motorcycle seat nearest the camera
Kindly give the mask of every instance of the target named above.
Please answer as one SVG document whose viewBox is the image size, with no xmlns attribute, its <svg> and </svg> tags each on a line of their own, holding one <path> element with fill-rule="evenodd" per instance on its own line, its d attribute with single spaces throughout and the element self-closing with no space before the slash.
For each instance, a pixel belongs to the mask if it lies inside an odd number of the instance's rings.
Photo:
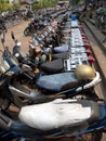
<svg viewBox="0 0 106 141">
<path fill-rule="evenodd" d="M 98 120 L 100 106 L 88 100 L 62 100 L 22 107 L 19 119 L 26 125 L 40 129 L 53 130 L 75 127 L 79 123 L 92 124 Z M 77 128 L 76 128 L 77 129 Z"/>
</svg>

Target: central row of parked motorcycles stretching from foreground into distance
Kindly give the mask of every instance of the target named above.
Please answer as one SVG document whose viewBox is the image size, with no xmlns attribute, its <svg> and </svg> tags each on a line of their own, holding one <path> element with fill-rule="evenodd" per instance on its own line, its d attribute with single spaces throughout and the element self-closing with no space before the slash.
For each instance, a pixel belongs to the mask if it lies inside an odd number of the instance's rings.
<svg viewBox="0 0 106 141">
<path fill-rule="evenodd" d="M 5 34 L 1 37 L 3 140 L 74 137 L 76 141 L 101 141 L 105 132 L 106 106 L 94 91 L 101 75 L 93 67 L 91 44 L 76 14 L 63 11 L 55 15 L 32 33 L 28 54 L 13 31 L 13 52 L 5 47 Z M 16 117 L 11 105 L 18 108 Z"/>
</svg>

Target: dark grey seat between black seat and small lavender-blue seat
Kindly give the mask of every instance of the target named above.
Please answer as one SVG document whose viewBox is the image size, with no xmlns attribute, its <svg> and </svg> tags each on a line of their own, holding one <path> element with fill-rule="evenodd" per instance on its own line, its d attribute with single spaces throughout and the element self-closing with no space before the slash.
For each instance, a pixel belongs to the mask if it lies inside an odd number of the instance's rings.
<svg viewBox="0 0 106 141">
<path fill-rule="evenodd" d="M 62 60 L 69 59 L 69 52 L 54 53 L 54 54 L 52 54 L 52 60 L 57 60 L 57 59 L 62 59 Z"/>
</svg>

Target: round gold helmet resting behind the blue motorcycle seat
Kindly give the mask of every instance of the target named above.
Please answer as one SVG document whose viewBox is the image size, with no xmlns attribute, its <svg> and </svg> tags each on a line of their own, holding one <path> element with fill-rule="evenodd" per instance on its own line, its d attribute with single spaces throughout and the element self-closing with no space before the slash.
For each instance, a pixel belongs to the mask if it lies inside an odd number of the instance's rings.
<svg viewBox="0 0 106 141">
<path fill-rule="evenodd" d="M 79 80 L 91 80 L 95 77 L 95 70 L 89 65 L 79 65 L 75 74 Z"/>
</svg>

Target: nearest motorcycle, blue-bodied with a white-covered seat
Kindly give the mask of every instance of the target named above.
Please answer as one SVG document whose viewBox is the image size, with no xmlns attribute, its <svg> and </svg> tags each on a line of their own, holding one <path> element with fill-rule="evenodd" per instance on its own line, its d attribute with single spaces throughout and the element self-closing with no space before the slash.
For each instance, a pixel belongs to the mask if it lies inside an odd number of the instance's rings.
<svg viewBox="0 0 106 141">
<path fill-rule="evenodd" d="M 106 132 L 104 100 L 57 99 L 24 106 L 17 116 L 14 120 L 0 113 L 1 139 L 101 141 Z"/>
</svg>

